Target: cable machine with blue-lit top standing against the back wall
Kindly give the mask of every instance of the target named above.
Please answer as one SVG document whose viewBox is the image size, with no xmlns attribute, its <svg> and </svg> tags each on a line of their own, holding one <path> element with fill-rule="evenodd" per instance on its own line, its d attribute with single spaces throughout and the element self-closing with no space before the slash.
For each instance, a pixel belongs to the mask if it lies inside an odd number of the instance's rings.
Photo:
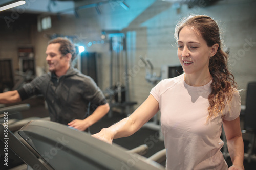
<svg viewBox="0 0 256 170">
<path fill-rule="evenodd" d="M 110 43 L 110 86 L 107 89 L 110 104 L 109 117 L 113 108 L 121 108 L 121 113 L 127 116 L 131 114 L 130 108 L 137 102 L 129 98 L 128 57 L 126 51 L 125 34 L 120 31 L 102 31 L 108 34 Z"/>
</svg>

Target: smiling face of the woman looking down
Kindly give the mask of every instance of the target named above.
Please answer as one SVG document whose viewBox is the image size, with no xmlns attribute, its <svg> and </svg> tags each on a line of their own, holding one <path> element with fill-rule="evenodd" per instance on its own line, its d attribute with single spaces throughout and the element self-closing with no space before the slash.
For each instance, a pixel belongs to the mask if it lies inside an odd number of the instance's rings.
<svg viewBox="0 0 256 170">
<path fill-rule="evenodd" d="M 186 74 L 209 72 L 212 47 L 208 47 L 203 37 L 193 27 L 181 29 L 178 39 L 178 57 Z"/>
</svg>

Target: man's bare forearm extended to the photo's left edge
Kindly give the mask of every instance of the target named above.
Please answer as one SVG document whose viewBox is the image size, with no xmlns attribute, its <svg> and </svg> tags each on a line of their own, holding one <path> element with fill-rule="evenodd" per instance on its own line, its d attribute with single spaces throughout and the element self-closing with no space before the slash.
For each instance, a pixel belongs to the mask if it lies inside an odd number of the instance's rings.
<svg viewBox="0 0 256 170">
<path fill-rule="evenodd" d="M 0 93 L 0 103 L 9 104 L 22 101 L 17 90 Z"/>
</svg>

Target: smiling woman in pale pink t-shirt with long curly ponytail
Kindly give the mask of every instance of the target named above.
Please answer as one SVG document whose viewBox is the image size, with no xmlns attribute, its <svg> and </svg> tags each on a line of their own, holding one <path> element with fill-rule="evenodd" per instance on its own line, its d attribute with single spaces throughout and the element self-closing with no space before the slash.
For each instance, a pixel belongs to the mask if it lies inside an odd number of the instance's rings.
<svg viewBox="0 0 256 170">
<path fill-rule="evenodd" d="M 131 116 L 93 136 L 112 143 L 135 133 L 160 110 L 166 169 L 228 169 L 220 152 L 222 124 L 233 163 L 229 169 L 244 169 L 241 100 L 217 23 L 205 15 L 189 16 L 175 36 L 184 73 L 162 80 Z"/>
</svg>

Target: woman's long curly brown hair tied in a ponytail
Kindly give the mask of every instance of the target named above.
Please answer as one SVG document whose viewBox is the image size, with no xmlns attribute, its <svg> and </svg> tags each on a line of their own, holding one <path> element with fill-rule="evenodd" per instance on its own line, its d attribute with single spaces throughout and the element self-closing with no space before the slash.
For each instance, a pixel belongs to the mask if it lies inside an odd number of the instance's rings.
<svg viewBox="0 0 256 170">
<path fill-rule="evenodd" d="M 206 15 L 191 15 L 183 19 L 175 28 L 175 38 L 178 40 L 179 33 L 185 26 L 193 27 L 201 34 L 207 46 L 219 44 L 216 54 L 210 57 L 209 71 L 212 76 L 211 93 L 209 100 L 209 115 L 207 120 L 222 114 L 226 104 L 232 99 L 232 92 L 237 88 L 234 76 L 227 68 L 228 54 L 222 50 L 220 30 L 216 21 Z M 230 108 L 229 108 L 230 109 Z"/>
</svg>

